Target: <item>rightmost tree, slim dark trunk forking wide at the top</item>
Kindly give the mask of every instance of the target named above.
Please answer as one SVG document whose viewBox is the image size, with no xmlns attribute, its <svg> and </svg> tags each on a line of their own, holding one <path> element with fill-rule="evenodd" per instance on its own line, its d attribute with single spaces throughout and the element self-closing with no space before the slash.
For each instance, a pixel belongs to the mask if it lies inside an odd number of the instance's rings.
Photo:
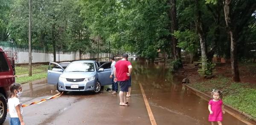
<svg viewBox="0 0 256 125">
<path fill-rule="evenodd" d="M 240 81 L 237 44 L 239 35 L 244 26 L 248 25 L 253 12 L 256 11 L 256 2 L 253 0 L 225 0 L 224 15 L 227 25 L 227 32 L 231 41 L 231 70 L 232 80 Z"/>
</svg>

